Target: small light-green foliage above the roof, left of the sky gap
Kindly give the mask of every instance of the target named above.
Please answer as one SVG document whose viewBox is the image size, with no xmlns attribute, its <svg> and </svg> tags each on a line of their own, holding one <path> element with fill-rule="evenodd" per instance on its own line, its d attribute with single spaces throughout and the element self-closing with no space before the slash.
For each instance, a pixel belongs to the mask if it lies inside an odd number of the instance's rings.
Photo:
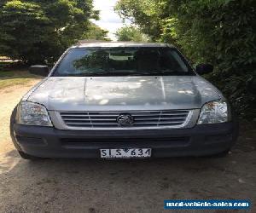
<svg viewBox="0 0 256 213">
<path fill-rule="evenodd" d="M 101 27 L 96 26 L 92 22 L 88 27 L 88 31 L 84 32 L 81 39 L 110 41 L 110 38 L 108 37 L 108 31 L 102 30 Z"/>
</svg>

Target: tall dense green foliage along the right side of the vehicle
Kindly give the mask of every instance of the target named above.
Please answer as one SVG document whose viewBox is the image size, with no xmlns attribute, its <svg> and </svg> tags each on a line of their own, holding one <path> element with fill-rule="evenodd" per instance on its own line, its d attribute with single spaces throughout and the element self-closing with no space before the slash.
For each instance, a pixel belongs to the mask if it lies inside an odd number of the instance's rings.
<svg viewBox="0 0 256 213">
<path fill-rule="evenodd" d="M 255 1 L 119 0 L 115 9 L 154 41 L 177 45 L 193 63 L 211 62 L 215 71 L 207 78 L 241 115 L 255 118 Z"/>
</svg>

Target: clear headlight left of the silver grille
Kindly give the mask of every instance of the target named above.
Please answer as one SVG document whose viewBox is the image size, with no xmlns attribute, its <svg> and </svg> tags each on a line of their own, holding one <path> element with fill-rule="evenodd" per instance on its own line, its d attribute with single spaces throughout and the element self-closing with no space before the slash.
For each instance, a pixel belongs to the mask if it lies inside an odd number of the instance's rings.
<svg viewBox="0 0 256 213">
<path fill-rule="evenodd" d="M 20 102 L 16 117 L 17 124 L 52 126 L 46 108 L 32 102 Z"/>
</svg>

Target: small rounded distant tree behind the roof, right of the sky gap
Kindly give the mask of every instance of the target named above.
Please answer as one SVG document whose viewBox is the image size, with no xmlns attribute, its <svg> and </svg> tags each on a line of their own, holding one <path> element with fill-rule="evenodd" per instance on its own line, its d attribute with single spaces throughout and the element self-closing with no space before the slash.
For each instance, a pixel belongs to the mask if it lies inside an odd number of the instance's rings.
<svg viewBox="0 0 256 213">
<path fill-rule="evenodd" d="M 115 33 L 119 41 L 148 42 L 148 37 L 135 26 L 124 26 Z"/>
</svg>

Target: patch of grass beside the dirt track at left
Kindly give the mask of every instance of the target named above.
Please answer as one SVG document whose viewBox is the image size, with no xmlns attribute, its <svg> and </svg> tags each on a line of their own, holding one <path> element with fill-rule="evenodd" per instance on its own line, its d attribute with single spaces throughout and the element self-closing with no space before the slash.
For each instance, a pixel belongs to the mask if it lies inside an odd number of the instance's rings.
<svg viewBox="0 0 256 213">
<path fill-rule="evenodd" d="M 40 77 L 30 74 L 26 70 L 3 70 L 0 71 L 0 89 L 15 85 L 26 85 L 35 79 L 40 79 Z"/>
</svg>

